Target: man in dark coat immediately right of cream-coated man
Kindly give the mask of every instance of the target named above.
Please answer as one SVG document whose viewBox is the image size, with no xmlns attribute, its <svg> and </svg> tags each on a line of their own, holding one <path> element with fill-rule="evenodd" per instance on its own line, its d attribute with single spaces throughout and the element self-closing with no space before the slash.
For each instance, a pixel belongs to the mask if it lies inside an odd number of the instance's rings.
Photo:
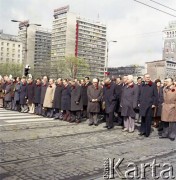
<svg viewBox="0 0 176 180">
<path fill-rule="evenodd" d="M 54 119 L 59 119 L 60 115 L 61 115 L 62 89 L 63 89 L 62 79 L 59 78 L 57 80 L 56 89 L 55 89 L 55 93 L 54 93 L 54 102 L 53 102 L 53 108 L 55 109 L 55 118 Z"/>
</svg>

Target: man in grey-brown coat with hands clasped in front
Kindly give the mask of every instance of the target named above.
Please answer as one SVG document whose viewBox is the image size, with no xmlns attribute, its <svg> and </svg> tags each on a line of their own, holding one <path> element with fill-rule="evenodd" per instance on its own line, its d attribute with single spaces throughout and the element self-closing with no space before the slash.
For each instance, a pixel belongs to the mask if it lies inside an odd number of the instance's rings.
<svg viewBox="0 0 176 180">
<path fill-rule="evenodd" d="M 89 126 L 98 125 L 98 113 L 101 110 L 101 101 L 103 97 L 103 89 L 98 85 L 98 79 L 93 79 L 93 85 L 90 85 L 87 89 L 88 107 L 89 113 Z"/>
</svg>

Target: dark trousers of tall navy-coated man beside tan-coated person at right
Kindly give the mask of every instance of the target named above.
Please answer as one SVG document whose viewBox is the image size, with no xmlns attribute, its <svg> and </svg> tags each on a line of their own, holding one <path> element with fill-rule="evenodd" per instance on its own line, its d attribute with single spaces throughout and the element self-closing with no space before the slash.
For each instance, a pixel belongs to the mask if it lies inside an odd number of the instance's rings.
<svg viewBox="0 0 176 180">
<path fill-rule="evenodd" d="M 145 135 L 148 137 L 151 132 L 151 123 L 152 123 L 152 116 L 142 116 L 141 119 L 141 133 L 145 133 Z"/>
</svg>

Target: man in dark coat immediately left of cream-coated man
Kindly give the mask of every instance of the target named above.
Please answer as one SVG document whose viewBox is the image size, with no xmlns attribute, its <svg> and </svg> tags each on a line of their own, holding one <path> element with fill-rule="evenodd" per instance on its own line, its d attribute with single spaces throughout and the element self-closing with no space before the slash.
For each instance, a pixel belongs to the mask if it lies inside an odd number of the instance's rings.
<svg viewBox="0 0 176 180">
<path fill-rule="evenodd" d="M 48 87 L 48 78 L 47 78 L 47 76 L 44 76 L 42 79 L 41 97 L 40 97 L 40 105 L 41 105 L 41 109 L 42 109 L 42 116 L 44 116 L 44 117 L 47 115 L 46 111 L 43 107 L 43 102 L 44 102 L 47 87 Z"/>
</svg>

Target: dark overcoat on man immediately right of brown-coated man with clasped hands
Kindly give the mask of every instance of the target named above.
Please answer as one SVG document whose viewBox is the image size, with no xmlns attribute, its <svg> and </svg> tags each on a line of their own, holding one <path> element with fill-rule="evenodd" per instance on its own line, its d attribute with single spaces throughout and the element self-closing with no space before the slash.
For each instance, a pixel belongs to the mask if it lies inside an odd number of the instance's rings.
<svg viewBox="0 0 176 180">
<path fill-rule="evenodd" d="M 105 112 L 114 112 L 117 104 L 117 91 L 113 82 L 109 86 L 103 87 L 103 99 L 105 101 Z"/>
</svg>

